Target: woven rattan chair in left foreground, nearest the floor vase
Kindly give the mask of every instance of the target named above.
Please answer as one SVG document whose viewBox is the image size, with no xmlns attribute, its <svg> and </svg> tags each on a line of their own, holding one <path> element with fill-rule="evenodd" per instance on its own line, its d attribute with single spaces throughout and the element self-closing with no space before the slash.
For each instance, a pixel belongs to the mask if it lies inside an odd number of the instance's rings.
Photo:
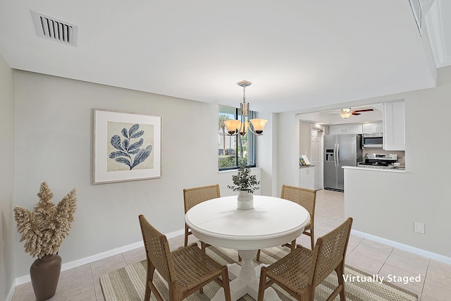
<svg viewBox="0 0 451 301">
<path fill-rule="evenodd" d="M 165 235 L 156 230 L 141 214 L 139 216 L 144 248 L 147 255 L 147 279 L 144 301 L 155 294 L 163 301 L 153 283 L 154 271 L 159 272 L 169 286 L 169 301 L 183 300 L 216 280 L 224 288 L 226 301 L 230 301 L 227 266 L 221 266 L 193 244 L 171 252 Z M 221 279 L 221 278 L 222 279 Z"/>
</svg>

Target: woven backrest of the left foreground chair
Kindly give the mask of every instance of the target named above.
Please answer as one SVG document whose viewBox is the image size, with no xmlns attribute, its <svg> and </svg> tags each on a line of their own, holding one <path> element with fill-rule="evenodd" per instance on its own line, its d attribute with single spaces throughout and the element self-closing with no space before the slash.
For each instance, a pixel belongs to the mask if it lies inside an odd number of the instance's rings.
<svg viewBox="0 0 451 301">
<path fill-rule="evenodd" d="M 171 283 L 175 280 L 175 269 L 168 239 L 163 233 L 156 230 L 142 214 L 140 214 L 139 219 L 147 260 L 152 262 L 152 265 L 164 280 Z"/>
</svg>

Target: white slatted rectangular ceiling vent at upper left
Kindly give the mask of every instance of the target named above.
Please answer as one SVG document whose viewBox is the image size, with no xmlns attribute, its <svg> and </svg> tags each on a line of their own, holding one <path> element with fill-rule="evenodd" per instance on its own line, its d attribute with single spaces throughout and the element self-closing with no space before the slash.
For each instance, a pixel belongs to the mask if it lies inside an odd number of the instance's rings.
<svg viewBox="0 0 451 301">
<path fill-rule="evenodd" d="M 61 20 L 56 20 L 42 13 L 31 10 L 35 22 L 36 33 L 39 37 L 46 37 L 63 44 L 77 46 L 78 26 Z"/>
</svg>

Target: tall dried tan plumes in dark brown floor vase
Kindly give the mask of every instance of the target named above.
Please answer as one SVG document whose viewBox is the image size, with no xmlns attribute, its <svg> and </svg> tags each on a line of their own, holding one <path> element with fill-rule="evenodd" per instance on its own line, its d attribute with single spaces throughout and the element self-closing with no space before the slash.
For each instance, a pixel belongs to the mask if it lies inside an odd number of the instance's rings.
<svg viewBox="0 0 451 301">
<path fill-rule="evenodd" d="M 37 196 L 39 202 L 33 211 L 14 207 L 14 219 L 20 241 L 25 240 L 25 252 L 37 256 L 30 266 L 30 278 L 36 299 L 40 301 L 55 295 L 61 271 L 58 250 L 72 227 L 77 190 L 74 188 L 55 206 L 51 202 L 54 195 L 44 182 Z"/>
</svg>

